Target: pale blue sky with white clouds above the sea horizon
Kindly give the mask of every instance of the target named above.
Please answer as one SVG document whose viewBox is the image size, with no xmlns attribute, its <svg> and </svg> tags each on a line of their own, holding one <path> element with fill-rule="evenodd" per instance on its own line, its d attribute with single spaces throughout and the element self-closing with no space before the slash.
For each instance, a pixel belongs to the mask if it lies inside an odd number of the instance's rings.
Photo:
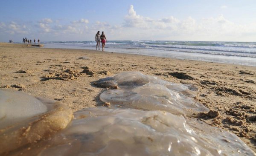
<svg viewBox="0 0 256 156">
<path fill-rule="evenodd" d="M 255 0 L 0 0 L 0 42 L 256 41 Z"/>
</svg>

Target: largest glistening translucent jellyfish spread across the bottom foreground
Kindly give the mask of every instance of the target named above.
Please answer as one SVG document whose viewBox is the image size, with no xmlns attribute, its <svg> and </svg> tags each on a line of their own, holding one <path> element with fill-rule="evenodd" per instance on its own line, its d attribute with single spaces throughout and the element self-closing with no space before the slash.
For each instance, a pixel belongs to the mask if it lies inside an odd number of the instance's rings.
<svg viewBox="0 0 256 156">
<path fill-rule="evenodd" d="M 28 150 L 29 149 L 29 150 Z M 165 111 L 94 107 L 74 113 L 69 127 L 10 155 L 248 156 L 236 135 Z"/>
</svg>

